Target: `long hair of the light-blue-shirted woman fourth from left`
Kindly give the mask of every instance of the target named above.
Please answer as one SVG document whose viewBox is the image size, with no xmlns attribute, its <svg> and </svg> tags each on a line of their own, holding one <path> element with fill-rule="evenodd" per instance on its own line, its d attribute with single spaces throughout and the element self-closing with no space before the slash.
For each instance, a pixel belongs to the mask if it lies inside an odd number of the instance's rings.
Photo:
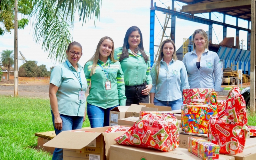
<svg viewBox="0 0 256 160">
<path fill-rule="evenodd" d="M 164 57 L 164 53 L 163 53 L 163 47 L 164 47 L 164 44 L 166 43 L 171 43 L 173 45 L 173 54 L 172 54 L 172 59 L 174 61 L 178 60 L 178 57 L 176 55 L 176 46 L 175 46 L 175 43 L 171 40 L 171 39 L 166 39 L 164 40 L 160 46 L 159 46 L 159 52 L 158 52 L 158 58 L 157 60 L 155 61 L 156 62 L 156 69 L 157 69 L 157 72 L 156 72 L 156 84 L 157 84 L 157 80 L 158 80 L 158 75 L 159 75 L 159 71 L 160 71 L 160 66 L 161 66 L 161 60 L 163 59 Z"/>
</svg>

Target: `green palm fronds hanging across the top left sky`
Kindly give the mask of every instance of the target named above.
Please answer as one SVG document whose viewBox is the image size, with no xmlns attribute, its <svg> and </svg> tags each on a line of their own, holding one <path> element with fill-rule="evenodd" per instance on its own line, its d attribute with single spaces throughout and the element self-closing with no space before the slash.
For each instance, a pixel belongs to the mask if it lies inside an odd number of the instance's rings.
<svg viewBox="0 0 256 160">
<path fill-rule="evenodd" d="M 62 62 L 66 58 L 65 50 L 72 42 L 74 14 L 79 14 L 79 21 L 100 16 L 101 0 L 19 0 L 19 12 L 32 20 L 32 30 L 36 43 L 42 42 L 48 58 Z M 4 11 L 12 12 L 13 0 L 0 0 L 0 22 Z M 0 28 L 1 33 L 1 28 Z M 0 34 L 1 35 L 1 34 Z"/>
</svg>

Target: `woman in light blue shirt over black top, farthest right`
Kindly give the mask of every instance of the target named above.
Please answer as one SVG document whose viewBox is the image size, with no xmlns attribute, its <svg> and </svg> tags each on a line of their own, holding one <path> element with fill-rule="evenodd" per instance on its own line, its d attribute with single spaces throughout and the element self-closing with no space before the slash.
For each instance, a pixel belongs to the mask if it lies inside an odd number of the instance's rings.
<svg viewBox="0 0 256 160">
<path fill-rule="evenodd" d="M 218 94 L 221 88 L 221 64 L 217 53 L 208 50 L 208 37 L 203 29 L 193 34 L 192 52 L 183 57 L 188 72 L 190 88 L 214 88 Z"/>
</svg>

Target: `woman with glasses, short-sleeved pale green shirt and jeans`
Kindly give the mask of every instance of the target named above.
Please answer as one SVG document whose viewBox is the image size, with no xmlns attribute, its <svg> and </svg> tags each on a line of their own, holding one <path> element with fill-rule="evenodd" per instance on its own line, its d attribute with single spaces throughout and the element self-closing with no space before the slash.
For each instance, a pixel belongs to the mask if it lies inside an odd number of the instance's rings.
<svg viewBox="0 0 256 160">
<path fill-rule="evenodd" d="M 84 93 L 87 85 L 83 67 L 78 63 L 83 54 L 81 44 L 70 43 L 66 54 L 67 60 L 52 69 L 50 78 L 49 97 L 56 135 L 81 129 L 86 115 Z M 52 159 L 63 159 L 61 148 L 55 148 Z"/>
</svg>

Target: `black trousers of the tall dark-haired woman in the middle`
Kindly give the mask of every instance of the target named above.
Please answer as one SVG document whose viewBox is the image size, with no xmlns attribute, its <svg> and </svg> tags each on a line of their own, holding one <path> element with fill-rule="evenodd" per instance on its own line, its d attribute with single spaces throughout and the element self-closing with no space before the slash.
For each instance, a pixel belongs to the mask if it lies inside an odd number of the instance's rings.
<svg viewBox="0 0 256 160">
<path fill-rule="evenodd" d="M 140 85 L 125 85 L 126 106 L 130 106 L 131 104 L 149 103 L 149 94 L 141 94 L 142 90 L 146 89 L 146 85 L 146 82 Z"/>
</svg>

